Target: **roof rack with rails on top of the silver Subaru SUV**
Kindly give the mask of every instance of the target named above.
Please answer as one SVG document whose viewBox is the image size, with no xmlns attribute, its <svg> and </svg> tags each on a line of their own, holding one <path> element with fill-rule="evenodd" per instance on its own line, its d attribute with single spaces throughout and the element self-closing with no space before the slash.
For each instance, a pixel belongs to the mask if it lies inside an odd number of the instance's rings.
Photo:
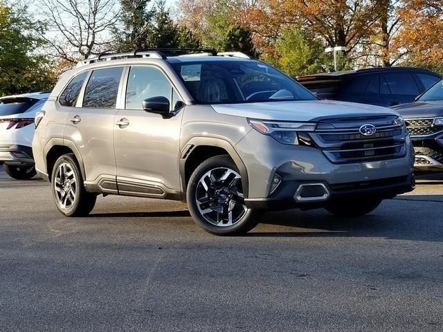
<svg viewBox="0 0 443 332">
<path fill-rule="evenodd" d="M 167 59 L 168 56 L 221 56 L 221 57 L 241 57 L 242 59 L 251 59 L 250 56 L 241 52 L 220 52 L 215 49 L 205 48 L 143 48 L 132 50 L 127 53 L 109 53 L 103 52 L 96 57 L 84 59 L 78 62 L 77 66 L 85 66 L 95 62 L 109 61 L 115 59 L 129 59 L 133 57 L 150 57 L 153 59 Z"/>
</svg>

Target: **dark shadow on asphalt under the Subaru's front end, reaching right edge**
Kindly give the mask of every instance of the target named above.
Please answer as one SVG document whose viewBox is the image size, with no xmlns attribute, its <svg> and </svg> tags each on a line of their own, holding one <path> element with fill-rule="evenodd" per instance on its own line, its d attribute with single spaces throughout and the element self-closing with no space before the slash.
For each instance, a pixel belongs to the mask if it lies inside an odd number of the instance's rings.
<svg viewBox="0 0 443 332">
<path fill-rule="evenodd" d="M 357 218 L 334 216 L 325 210 L 287 210 L 266 213 L 261 223 L 266 225 L 262 232 L 256 228 L 246 237 L 384 237 L 443 242 L 443 195 L 399 196 Z M 281 232 L 278 226 L 284 227 Z"/>
</svg>

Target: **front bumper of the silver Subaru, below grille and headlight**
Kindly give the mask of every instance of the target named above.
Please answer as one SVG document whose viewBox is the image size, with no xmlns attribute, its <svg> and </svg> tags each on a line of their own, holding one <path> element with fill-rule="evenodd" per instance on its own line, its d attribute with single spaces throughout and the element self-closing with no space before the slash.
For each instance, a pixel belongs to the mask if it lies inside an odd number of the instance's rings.
<svg viewBox="0 0 443 332">
<path fill-rule="evenodd" d="M 360 163 L 332 163 L 320 149 L 283 145 L 269 136 L 251 131 L 237 143 L 237 151 L 248 172 L 246 206 L 284 210 L 321 208 L 341 199 L 388 199 L 413 190 L 414 151 L 406 137 L 406 152 L 401 158 Z M 257 149 L 257 147 L 260 147 Z M 271 193 L 275 174 L 282 179 Z M 317 184 L 312 192 L 327 188 L 319 199 L 300 201 L 296 192 L 301 184 Z M 321 199 L 320 199 L 321 198 Z"/>
</svg>

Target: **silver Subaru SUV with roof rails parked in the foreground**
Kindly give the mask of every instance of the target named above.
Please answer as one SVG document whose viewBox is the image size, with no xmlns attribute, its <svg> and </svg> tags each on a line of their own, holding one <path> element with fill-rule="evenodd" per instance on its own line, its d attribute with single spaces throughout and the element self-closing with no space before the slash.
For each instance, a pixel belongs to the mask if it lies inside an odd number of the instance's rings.
<svg viewBox="0 0 443 332">
<path fill-rule="evenodd" d="M 413 190 L 395 111 L 318 100 L 242 53 L 165 52 L 84 60 L 37 114 L 35 165 L 62 214 L 89 214 L 98 194 L 181 200 L 227 235 L 264 210 L 360 216 Z"/>
</svg>

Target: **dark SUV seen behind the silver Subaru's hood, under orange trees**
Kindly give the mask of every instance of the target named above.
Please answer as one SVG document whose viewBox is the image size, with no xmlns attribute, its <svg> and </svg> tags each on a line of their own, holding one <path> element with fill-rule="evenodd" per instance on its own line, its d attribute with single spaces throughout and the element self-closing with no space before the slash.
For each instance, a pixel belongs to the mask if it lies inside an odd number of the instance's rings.
<svg viewBox="0 0 443 332">
<path fill-rule="evenodd" d="M 296 80 L 321 99 L 391 107 L 413 102 L 441 78 L 426 69 L 390 67 L 320 73 Z"/>
</svg>

